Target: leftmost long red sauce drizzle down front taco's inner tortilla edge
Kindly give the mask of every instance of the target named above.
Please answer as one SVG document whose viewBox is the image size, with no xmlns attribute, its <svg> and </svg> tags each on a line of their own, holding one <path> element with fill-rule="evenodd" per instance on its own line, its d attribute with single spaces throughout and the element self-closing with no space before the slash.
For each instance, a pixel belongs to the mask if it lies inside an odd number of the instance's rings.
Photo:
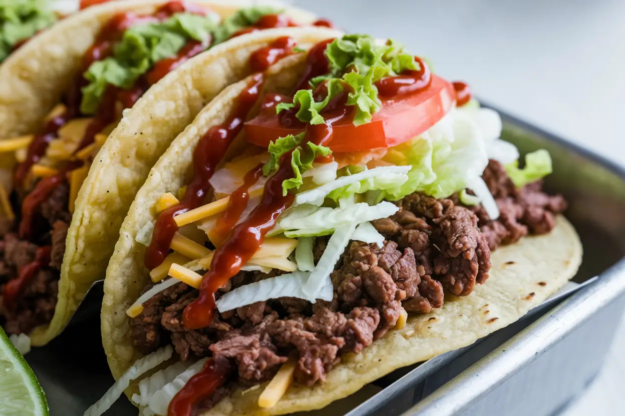
<svg viewBox="0 0 625 416">
<path fill-rule="evenodd" d="M 212 177 L 217 164 L 226 154 L 226 150 L 234 137 L 241 132 L 247 113 L 256 104 L 263 82 L 262 73 L 254 75 L 247 89 L 239 95 L 234 114 L 226 122 L 208 130 L 197 143 L 193 153 L 193 180 L 189 184 L 183 200 L 161 212 L 154 225 L 152 241 L 144 257 L 144 263 L 148 269 L 154 269 L 163 263 L 169 253 L 171 239 L 178 231 L 174 216 L 197 208 L 204 202 L 204 198 L 211 188 L 208 180 Z"/>
</svg>

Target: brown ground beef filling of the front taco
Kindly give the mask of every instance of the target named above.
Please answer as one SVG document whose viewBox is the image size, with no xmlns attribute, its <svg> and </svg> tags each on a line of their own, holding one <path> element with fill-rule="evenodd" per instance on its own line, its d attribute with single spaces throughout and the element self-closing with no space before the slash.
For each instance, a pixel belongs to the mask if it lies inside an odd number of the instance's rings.
<svg viewBox="0 0 625 416">
<path fill-rule="evenodd" d="M 527 233 L 551 230 L 553 216 L 566 206 L 561 196 L 545 195 L 540 183 L 515 190 L 499 167 L 491 162 L 484 179 L 500 209 L 508 204 L 520 211 L 515 212 L 514 224 L 523 227 L 524 234 L 504 235 L 501 230 L 513 230 L 503 209 L 504 216 L 491 221 L 479 207 L 461 206 L 455 197 L 436 200 L 414 193 L 397 201 L 395 215 L 372 221 L 384 235 L 381 248 L 349 244 L 331 274 L 331 302 L 257 302 L 215 314 L 209 327 L 189 330 L 183 326 L 183 311 L 197 291 L 181 283 L 152 297 L 131 319 L 134 345 L 148 354 L 173 344 L 182 360 L 228 359 L 239 384 L 271 379 L 295 354 L 296 380 L 307 385 L 322 382 L 342 354 L 361 351 L 394 327 L 402 308 L 424 314 L 441 307 L 446 293 L 467 296 L 488 278 L 491 249 Z M 315 261 L 326 243 L 327 238 L 317 238 Z M 222 292 L 276 274 L 242 272 Z M 207 400 L 201 407 L 217 401 Z"/>
</svg>

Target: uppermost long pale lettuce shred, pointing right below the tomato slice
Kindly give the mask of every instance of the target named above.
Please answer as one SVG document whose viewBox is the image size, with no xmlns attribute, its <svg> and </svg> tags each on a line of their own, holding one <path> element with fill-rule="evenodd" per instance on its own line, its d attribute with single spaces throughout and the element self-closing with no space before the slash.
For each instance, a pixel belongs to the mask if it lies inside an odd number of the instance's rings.
<svg viewBox="0 0 625 416">
<path fill-rule="evenodd" d="M 369 190 L 392 190 L 408 180 L 407 173 L 411 168 L 384 166 L 340 177 L 326 185 L 297 194 L 295 203 L 321 206 L 326 197 L 337 201 Z"/>
</svg>

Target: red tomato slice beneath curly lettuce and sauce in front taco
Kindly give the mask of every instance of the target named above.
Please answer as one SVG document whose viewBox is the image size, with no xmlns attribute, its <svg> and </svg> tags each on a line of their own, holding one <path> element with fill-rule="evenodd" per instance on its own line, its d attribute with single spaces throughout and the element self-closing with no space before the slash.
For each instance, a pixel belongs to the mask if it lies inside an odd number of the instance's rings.
<svg viewBox="0 0 625 416">
<path fill-rule="evenodd" d="M 333 125 L 328 146 L 332 152 L 340 153 L 398 145 L 436 124 L 451 110 L 455 100 L 453 85 L 432 75 L 432 84 L 425 90 L 382 99 L 382 108 L 373 115 L 370 123 L 355 127 L 346 120 Z M 264 147 L 272 140 L 302 130 L 301 126 L 282 127 L 272 112 L 263 112 L 245 123 L 247 141 Z"/>
</svg>

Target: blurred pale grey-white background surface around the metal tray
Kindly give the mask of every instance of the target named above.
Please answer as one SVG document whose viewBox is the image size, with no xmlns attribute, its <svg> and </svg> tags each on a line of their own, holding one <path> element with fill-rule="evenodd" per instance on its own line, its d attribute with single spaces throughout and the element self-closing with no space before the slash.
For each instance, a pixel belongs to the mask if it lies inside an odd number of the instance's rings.
<svg viewBox="0 0 625 416">
<path fill-rule="evenodd" d="M 402 41 L 489 105 L 625 164 L 625 1 L 292 3 L 346 31 Z M 565 416 L 623 414 L 624 350 L 621 324 L 601 374 Z"/>
</svg>

